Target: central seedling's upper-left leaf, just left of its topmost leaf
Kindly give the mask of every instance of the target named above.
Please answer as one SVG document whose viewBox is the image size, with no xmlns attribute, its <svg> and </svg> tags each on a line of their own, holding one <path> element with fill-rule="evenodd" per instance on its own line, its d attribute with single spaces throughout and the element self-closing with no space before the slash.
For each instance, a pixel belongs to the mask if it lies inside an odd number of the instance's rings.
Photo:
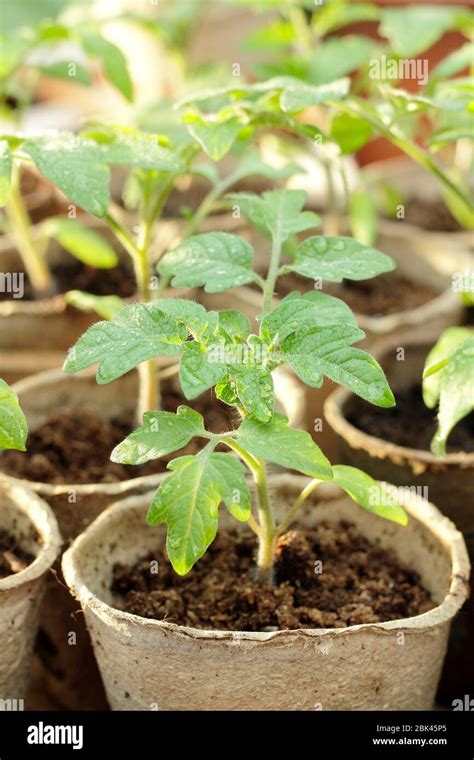
<svg viewBox="0 0 474 760">
<path fill-rule="evenodd" d="M 257 279 L 251 270 L 250 243 L 228 232 L 205 232 L 185 240 L 165 254 L 158 272 L 172 277 L 175 287 L 201 287 L 221 293 Z"/>
</svg>

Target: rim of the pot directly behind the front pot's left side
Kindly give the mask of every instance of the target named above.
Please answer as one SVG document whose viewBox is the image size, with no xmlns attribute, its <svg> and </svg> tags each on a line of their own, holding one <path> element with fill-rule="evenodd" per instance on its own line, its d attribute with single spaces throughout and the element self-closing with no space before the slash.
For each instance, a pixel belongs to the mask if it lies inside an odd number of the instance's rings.
<svg viewBox="0 0 474 760">
<path fill-rule="evenodd" d="M 176 365 L 178 364 L 179 362 L 176 362 Z M 96 370 L 94 368 L 83 370 L 82 372 L 78 372 L 75 375 L 66 375 L 61 368 L 47 369 L 43 372 L 38 372 L 35 375 L 29 375 L 28 377 L 19 380 L 17 383 L 13 384 L 12 388 L 21 400 L 21 394 L 34 390 L 38 384 L 41 386 L 44 383 L 54 383 L 56 380 L 69 380 L 73 383 L 84 378 L 87 379 L 90 377 L 95 377 L 95 375 Z M 273 375 L 275 386 L 275 400 L 280 400 L 282 404 L 283 399 L 285 398 L 285 381 L 287 381 L 289 378 L 291 379 L 292 377 L 293 376 L 286 370 L 286 368 L 283 368 L 280 373 L 276 372 Z M 278 393 L 279 387 L 281 389 L 280 394 Z M 295 388 L 293 393 L 297 397 L 299 404 L 303 404 L 304 398 L 299 388 Z M 186 399 L 183 397 L 183 402 L 185 401 Z M 285 408 L 285 412 L 287 411 L 287 408 Z M 144 491 L 150 488 L 155 488 L 161 483 L 167 474 L 168 470 L 165 470 L 164 472 L 158 472 L 154 475 L 141 475 L 137 478 L 127 478 L 127 480 L 120 480 L 115 483 L 53 484 L 45 483 L 41 480 L 26 480 L 25 478 L 17 478 L 14 475 L 3 473 L 0 470 L 0 477 L 8 479 L 11 483 L 22 484 L 27 488 L 34 489 L 36 493 L 39 493 L 42 496 L 58 496 L 61 494 L 69 493 L 70 491 L 75 491 L 78 496 L 87 496 L 90 494 L 96 494 L 98 492 L 110 496 L 120 496 L 125 491 Z"/>
</svg>

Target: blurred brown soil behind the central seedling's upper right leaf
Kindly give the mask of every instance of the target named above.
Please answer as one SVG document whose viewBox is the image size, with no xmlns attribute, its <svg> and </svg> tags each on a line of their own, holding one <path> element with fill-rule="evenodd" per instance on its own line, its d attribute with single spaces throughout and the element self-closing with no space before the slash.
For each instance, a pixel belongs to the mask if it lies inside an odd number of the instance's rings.
<svg viewBox="0 0 474 760">
<path fill-rule="evenodd" d="M 277 294 L 284 297 L 292 291 L 308 292 L 313 289 L 312 280 L 297 274 L 282 277 L 277 284 Z M 381 274 L 372 280 L 324 283 L 323 292 L 341 298 L 356 314 L 386 316 L 407 309 L 415 309 L 438 293 L 424 285 L 418 285 L 395 272 Z"/>
</svg>

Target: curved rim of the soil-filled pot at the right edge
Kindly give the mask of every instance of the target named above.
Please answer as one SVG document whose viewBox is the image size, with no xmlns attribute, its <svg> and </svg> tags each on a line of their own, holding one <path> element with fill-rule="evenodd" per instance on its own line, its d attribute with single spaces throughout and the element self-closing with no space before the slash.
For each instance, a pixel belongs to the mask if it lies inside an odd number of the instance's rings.
<svg viewBox="0 0 474 760">
<path fill-rule="evenodd" d="M 436 340 L 436 338 L 434 339 Z M 432 346 L 428 340 L 426 343 L 419 338 L 404 338 L 406 346 Z M 373 356 L 381 360 L 391 350 L 398 347 L 399 341 L 393 336 L 389 340 L 379 341 L 372 349 Z M 447 454 L 445 459 L 436 457 L 431 451 L 425 449 L 413 449 L 409 446 L 401 446 L 397 443 L 386 441 L 384 438 L 364 433 L 352 425 L 345 416 L 347 403 L 355 397 L 348 388 L 337 388 L 324 402 L 324 415 L 332 429 L 345 441 L 350 441 L 352 448 L 370 451 L 378 459 L 391 459 L 396 462 L 420 462 L 432 467 L 461 467 L 463 469 L 474 467 L 474 452 L 468 454 L 460 451 Z"/>
</svg>

